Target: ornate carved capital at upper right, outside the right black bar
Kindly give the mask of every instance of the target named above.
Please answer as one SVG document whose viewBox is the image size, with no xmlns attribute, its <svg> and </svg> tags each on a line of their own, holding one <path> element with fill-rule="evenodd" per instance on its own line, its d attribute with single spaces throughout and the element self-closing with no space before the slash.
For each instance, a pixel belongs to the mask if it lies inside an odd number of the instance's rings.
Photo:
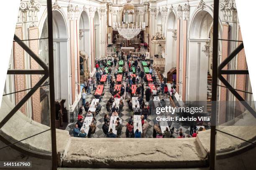
<svg viewBox="0 0 256 170">
<path fill-rule="evenodd" d="M 237 19 L 236 3 L 234 0 L 224 0 L 220 3 L 220 11 L 223 14 L 223 21 L 235 22 Z"/>
</svg>

